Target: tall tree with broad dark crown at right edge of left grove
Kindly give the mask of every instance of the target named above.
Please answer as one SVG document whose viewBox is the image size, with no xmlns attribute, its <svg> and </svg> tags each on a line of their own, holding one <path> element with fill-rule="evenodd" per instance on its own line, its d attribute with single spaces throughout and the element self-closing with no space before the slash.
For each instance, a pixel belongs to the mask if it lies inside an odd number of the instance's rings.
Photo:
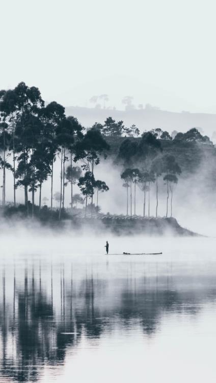
<svg viewBox="0 0 216 383">
<path fill-rule="evenodd" d="M 100 163 L 100 156 L 106 158 L 106 152 L 110 149 L 102 134 L 98 129 L 91 128 L 85 134 L 84 138 L 76 143 L 76 154 L 74 161 L 83 160 L 83 169 L 91 173 L 92 184 L 94 180 L 94 167 Z M 93 189 L 91 195 L 91 205 L 93 206 Z"/>
</svg>

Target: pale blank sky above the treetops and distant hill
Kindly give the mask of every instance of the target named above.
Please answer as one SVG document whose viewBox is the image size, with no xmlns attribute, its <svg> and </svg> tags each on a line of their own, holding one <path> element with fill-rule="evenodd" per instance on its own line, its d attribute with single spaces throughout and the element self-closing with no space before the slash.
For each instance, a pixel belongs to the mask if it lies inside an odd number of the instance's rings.
<svg viewBox="0 0 216 383">
<path fill-rule="evenodd" d="M 64 106 L 109 95 L 216 113 L 212 0 L 2 0 L 0 87 L 20 81 Z"/>
</svg>

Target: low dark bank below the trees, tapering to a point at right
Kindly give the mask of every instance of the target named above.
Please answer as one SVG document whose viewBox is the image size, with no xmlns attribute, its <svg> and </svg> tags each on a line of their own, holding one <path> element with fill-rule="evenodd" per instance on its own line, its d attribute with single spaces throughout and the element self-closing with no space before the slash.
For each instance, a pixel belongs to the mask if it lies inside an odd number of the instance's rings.
<svg viewBox="0 0 216 383">
<path fill-rule="evenodd" d="M 202 234 L 188 230 L 173 218 L 166 217 L 141 217 L 124 216 L 123 214 L 88 214 L 84 212 L 71 212 L 69 209 L 62 212 L 59 220 L 58 210 L 42 208 L 36 210 L 35 217 L 27 216 L 23 206 L 19 208 L 5 207 L 0 209 L 2 223 L 23 224 L 23 227 L 40 225 L 42 228 L 50 228 L 53 231 L 91 232 L 94 234 L 110 232 L 118 236 L 122 235 L 147 235 L 147 236 L 203 236 Z"/>
</svg>

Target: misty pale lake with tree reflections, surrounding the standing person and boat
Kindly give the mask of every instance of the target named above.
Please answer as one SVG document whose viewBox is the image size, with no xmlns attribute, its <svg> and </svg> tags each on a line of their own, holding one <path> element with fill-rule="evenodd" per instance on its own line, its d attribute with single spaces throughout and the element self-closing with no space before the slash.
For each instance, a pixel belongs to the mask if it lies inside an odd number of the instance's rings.
<svg viewBox="0 0 216 383">
<path fill-rule="evenodd" d="M 1 238 L 1 383 L 216 381 L 214 238 L 26 238 Z"/>
</svg>

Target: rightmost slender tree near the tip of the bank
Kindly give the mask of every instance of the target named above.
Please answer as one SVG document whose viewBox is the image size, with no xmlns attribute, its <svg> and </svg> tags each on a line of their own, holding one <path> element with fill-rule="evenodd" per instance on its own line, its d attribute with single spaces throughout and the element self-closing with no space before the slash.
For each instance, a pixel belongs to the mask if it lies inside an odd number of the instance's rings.
<svg viewBox="0 0 216 383">
<path fill-rule="evenodd" d="M 176 175 L 181 174 L 181 168 L 179 164 L 176 162 L 176 159 L 172 155 L 165 155 L 163 157 L 163 167 L 164 167 L 164 181 L 167 184 L 167 211 L 166 217 L 168 217 L 168 202 L 169 202 L 169 188 L 171 183 L 177 183 L 178 179 Z M 173 194 L 173 192 L 172 192 Z"/>
</svg>

